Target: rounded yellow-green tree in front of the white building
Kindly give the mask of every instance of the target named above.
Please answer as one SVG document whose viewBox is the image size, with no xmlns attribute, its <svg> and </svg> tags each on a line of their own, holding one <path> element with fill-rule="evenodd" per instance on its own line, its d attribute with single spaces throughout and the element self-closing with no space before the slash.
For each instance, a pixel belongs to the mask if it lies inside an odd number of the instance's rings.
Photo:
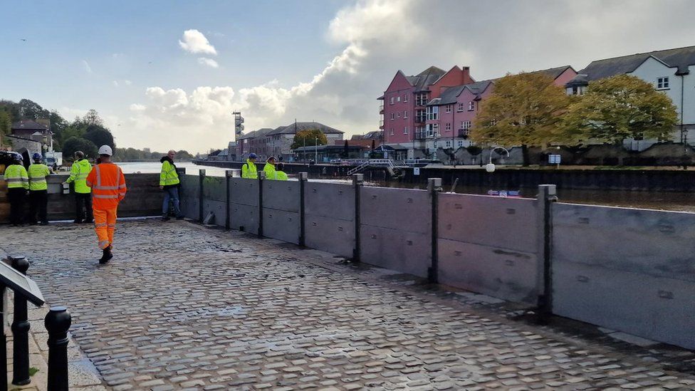
<svg viewBox="0 0 695 391">
<path fill-rule="evenodd" d="M 564 118 L 567 137 L 617 144 L 628 137 L 667 140 L 678 122 L 676 106 L 654 85 L 632 75 L 589 83 Z"/>
</svg>

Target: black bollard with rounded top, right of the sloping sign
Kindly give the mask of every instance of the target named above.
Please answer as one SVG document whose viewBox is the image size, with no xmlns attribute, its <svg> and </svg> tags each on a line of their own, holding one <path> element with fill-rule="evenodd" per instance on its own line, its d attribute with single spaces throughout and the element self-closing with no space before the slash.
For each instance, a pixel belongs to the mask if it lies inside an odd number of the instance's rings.
<svg viewBox="0 0 695 391">
<path fill-rule="evenodd" d="M 67 308 L 51 307 L 43 324 L 48 330 L 48 391 L 68 391 L 68 329 Z"/>
</svg>

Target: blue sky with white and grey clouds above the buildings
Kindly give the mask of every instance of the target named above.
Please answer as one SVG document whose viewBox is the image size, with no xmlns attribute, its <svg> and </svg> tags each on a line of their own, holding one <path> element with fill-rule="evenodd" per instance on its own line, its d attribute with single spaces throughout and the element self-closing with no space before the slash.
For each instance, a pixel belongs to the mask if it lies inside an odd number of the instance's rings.
<svg viewBox="0 0 695 391">
<path fill-rule="evenodd" d="M 234 110 L 246 130 L 376 130 L 398 69 L 481 80 L 695 45 L 689 0 L 27 0 L 3 14 L 0 98 L 68 119 L 93 108 L 120 147 L 194 152 L 234 139 Z"/>
</svg>

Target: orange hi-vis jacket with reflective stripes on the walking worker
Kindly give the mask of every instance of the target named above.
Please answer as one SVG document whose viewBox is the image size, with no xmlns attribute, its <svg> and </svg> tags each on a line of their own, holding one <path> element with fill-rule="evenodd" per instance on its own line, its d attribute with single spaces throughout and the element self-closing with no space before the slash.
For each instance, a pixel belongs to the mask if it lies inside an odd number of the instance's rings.
<svg viewBox="0 0 695 391">
<path fill-rule="evenodd" d="M 125 197 L 125 176 L 112 162 L 101 163 L 92 167 L 87 175 L 87 186 L 92 188 L 93 209 L 115 209 Z"/>
</svg>

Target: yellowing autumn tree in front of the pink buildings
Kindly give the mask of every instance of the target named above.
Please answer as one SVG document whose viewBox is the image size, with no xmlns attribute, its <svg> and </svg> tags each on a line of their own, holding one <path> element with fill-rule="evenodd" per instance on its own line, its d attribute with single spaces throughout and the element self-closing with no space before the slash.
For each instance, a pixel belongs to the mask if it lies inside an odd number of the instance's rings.
<svg viewBox="0 0 695 391">
<path fill-rule="evenodd" d="M 546 75 L 506 75 L 483 101 L 471 139 L 483 145 L 521 145 L 523 165 L 528 165 L 529 146 L 565 142 L 560 123 L 569 104 L 563 88 Z"/>
</svg>

